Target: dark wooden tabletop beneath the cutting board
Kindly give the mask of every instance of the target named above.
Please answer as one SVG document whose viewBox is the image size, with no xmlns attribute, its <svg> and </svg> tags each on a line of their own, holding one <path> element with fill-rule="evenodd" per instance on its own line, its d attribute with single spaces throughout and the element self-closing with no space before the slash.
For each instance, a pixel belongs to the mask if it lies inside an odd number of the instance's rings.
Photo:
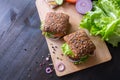
<svg viewBox="0 0 120 80">
<path fill-rule="evenodd" d="M 0 0 L 0 80 L 120 80 L 120 47 L 109 44 L 107 63 L 60 78 L 46 74 L 52 62 L 39 26 L 35 0 Z"/>
</svg>

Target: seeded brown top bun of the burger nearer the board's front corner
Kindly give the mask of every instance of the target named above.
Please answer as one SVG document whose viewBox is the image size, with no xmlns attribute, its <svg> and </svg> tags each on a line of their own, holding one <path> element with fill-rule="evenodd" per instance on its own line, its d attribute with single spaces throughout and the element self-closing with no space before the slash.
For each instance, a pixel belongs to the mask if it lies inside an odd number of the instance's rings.
<svg viewBox="0 0 120 80">
<path fill-rule="evenodd" d="M 78 30 L 74 33 L 64 36 L 64 40 L 69 45 L 70 49 L 74 53 L 75 57 L 72 59 L 80 59 L 80 57 L 93 53 L 95 50 L 95 45 L 87 36 L 86 32 L 83 30 Z"/>
</svg>

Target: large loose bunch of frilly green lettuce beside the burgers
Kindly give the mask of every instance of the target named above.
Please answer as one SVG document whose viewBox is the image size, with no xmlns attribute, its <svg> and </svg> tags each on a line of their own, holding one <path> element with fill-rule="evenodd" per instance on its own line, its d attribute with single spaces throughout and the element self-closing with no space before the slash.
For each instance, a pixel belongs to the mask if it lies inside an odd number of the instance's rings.
<svg viewBox="0 0 120 80">
<path fill-rule="evenodd" d="M 98 0 L 93 2 L 92 11 L 88 12 L 80 23 L 94 36 L 113 46 L 120 42 L 120 0 Z"/>
</svg>

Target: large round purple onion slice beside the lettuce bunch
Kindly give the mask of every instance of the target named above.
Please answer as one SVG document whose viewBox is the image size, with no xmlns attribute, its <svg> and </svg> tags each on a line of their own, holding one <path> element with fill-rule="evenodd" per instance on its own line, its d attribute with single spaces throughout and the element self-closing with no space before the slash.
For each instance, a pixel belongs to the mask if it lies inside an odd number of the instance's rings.
<svg viewBox="0 0 120 80">
<path fill-rule="evenodd" d="M 86 14 L 88 11 L 92 9 L 92 1 L 91 0 L 78 0 L 75 7 L 79 13 Z"/>
</svg>

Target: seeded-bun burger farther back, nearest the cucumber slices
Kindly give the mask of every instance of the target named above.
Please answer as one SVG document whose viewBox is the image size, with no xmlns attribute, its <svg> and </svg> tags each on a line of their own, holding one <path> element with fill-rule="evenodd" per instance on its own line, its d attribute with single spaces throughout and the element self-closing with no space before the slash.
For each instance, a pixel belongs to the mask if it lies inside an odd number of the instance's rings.
<svg viewBox="0 0 120 80">
<path fill-rule="evenodd" d="M 69 29 L 69 16 L 65 13 L 48 12 L 41 26 L 42 34 L 48 38 L 61 38 Z"/>
</svg>

